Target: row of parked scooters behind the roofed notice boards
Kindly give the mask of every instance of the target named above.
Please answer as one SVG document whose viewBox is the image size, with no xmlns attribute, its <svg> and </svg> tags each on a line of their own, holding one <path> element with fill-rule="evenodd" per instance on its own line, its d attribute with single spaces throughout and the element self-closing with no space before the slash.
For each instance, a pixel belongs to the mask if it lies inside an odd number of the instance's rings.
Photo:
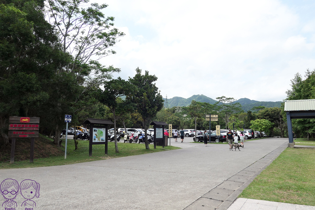
<svg viewBox="0 0 315 210">
<path fill-rule="evenodd" d="M 129 136 L 127 133 L 125 133 L 125 132 L 123 131 L 122 134 L 117 134 L 117 135 L 116 135 L 117 141 L 120 141 L 121 135 L 124 135 L 124 136 L 123 136 L 123 139 L 124 139 L 123 142 L 124 142 L 124 143 L 125 143 L 125 142 L 129 142 L 129 143 L 132 143 L 132 142 L 137 143 L 137 142 L 138 142 L 139 144 L 140 144 L 140 143 L 145 143 L 145 135 L 144 135 L 143 133 L 140 133 L 140 134 L 138 134 L 138 135 L 135 135 L 135 133 L 132 133 L 132 134 Z M 153 143 L 153 142 L 154 142 L 154 137 L 153 137 L 152 133 L 148 134 L 147 136 L 148 136 L 148 143 L 149 143 L 149 144 Z M 87 133 L 85 139 L 88 140 L 89 137 L 90 137 L 90 134 Z M 73 136 L 73 139 L 74 139 L 74 136 Z M 76 139 L 82 139 L 82 140 L 84 140 L 84 133 L 83 133 L 82 131 L 78 131 L 78 132 L 76 133 Z M 114 139 L 114 132 L 112 132 L 112 134 L 109 134 L 109 133 L 108 133 L 108 139 L 110 140 L 110 142 L 112 142 L 112 141 L 115 140 L 115 139 Z"/>
</svg>

